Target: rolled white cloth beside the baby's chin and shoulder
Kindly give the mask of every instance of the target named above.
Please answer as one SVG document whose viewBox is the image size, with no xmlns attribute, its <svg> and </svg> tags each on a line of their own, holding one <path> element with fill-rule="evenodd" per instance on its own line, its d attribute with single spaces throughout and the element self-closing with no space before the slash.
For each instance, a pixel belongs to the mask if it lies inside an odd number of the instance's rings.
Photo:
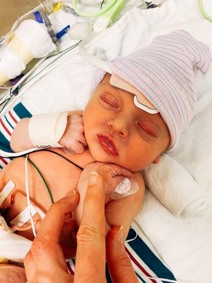
<svg viewBox="0 0 212 283">
<path fill-rule="evenodd" d="M 141 171 L 145 185 L 176 216 L 202 216 L 209 206 L 207 191 L 166 153 Z"/>
</svg>

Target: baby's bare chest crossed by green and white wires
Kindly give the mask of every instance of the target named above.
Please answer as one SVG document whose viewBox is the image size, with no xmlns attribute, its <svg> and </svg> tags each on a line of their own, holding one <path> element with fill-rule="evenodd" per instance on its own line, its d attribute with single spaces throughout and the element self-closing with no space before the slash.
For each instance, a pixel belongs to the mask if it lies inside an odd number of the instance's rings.
<svg viewBox="0 0 212 283">
<path fill-rule="evenodd" d="M 26 199 L 28 190 L 30 201 L 46 212 L 52 201 L 68 195 L 78 184 L 81 170 L 67 161 L 67 164 L 64 164 L 54 158 L 48 162 L 31 158 L 31 162 L 27 162 L 27 168 L 24 161 L 13 160 L 0 171 L 0 194 L 8 183 L 13 183 L 11 191 L 7 190 L 3 208 L 11 203 L 11 197 L 14 198 L 14 208 L 17 206 L 20 210 L 20 203 L 24 208 L 26 201 L 23 199 Z"/>
</svg>

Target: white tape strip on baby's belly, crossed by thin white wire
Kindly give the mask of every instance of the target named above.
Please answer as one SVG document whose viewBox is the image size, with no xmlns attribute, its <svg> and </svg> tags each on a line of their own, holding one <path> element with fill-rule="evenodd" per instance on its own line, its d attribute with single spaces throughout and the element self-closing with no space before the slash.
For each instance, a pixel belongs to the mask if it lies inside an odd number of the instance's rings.
<svg viewBox="0 0 212 283">
<path fill-rule="evenodd" d="M 45 213 L 40 208 L 38 208 L 37 206 L 35 207 L 32 204 L 30 204 L 30 211 L 31 211 L 32 216 L 38 213 L 42 219 L 45 217 Z M 17 226 L 23 226 L 28 220 L 30 220 L 29 208 L 26 207 L 12 221 L 10 221 L 10 224 L 17 225 Z"/>
</svg>

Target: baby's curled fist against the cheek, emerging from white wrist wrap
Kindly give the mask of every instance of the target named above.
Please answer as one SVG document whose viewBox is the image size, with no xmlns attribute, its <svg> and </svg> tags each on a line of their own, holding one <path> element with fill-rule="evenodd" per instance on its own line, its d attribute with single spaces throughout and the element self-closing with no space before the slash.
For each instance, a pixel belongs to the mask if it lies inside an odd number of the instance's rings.
<svg viewBox="0 0 212 283">
<path fill-rule="evenodd" d="M 66 129 L 59 143 L 64 145 L 62 149 L 70 155 L 84 151 L 87 142 L 84 137 L 82 116 L 77 114 L 68 116 Z"/>
</svg>

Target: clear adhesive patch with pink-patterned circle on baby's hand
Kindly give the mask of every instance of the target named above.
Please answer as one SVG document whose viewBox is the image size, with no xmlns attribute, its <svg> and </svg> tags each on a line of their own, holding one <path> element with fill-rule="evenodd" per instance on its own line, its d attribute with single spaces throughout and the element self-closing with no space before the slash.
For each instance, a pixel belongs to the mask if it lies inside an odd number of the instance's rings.
<svg viewBox="0 0 212 283">
<path fill-rule="evenodd" d="M 124 198 L 128 195 L 132 195 L 136 193 L 138 189 L 139 186 L 135 178 L 129 179 L 128 177 L 124 177 L 124 179 L 121 181 L 121 183 L 118 184 L 115 190 L 109 193 L 109 196 L 112 199 L 116 200 L 116 199 Z"/>
</svg>

